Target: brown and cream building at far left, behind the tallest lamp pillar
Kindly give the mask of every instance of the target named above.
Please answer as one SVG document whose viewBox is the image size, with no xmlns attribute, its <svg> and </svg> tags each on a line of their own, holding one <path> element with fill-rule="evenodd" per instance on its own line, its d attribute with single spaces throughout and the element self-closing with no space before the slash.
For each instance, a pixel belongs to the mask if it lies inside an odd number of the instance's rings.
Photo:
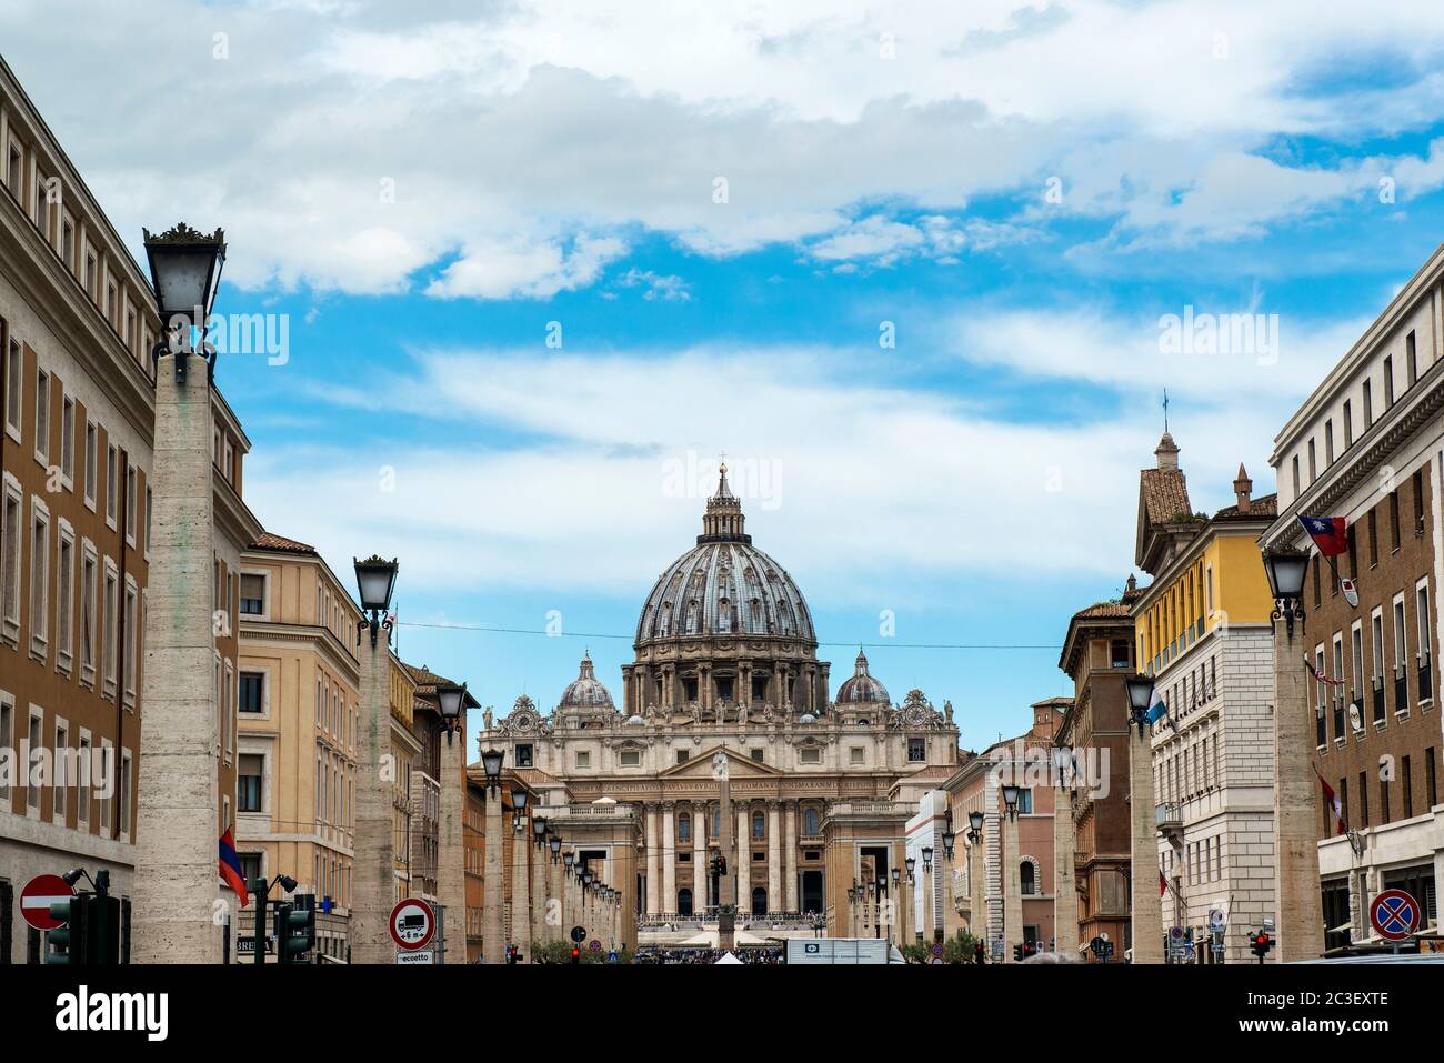
<svg viewBox="0 0 1444 1063">
<path fill-rule="evenodd" d="M 3 61 L 0 189 L 0 747 L 42 764 L 35 786 L 0 778 L 0 956 L 25 962 L 43 942 L 17 894 L 42 872 L 108 871 L 129 940 L 160 322 Z M 240 555 L 261 527 L 241 497 L 250 441 L 214 389 L 211 419 L 218 838 L 235 817 Z"/>
</svg>

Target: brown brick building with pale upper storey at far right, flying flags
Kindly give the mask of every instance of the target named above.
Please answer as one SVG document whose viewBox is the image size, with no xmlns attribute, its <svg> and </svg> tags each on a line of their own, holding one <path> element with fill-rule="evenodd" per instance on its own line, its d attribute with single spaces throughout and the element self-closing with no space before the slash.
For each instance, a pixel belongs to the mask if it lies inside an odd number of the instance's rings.
<svg viewBox="0 0 1444 1063">
<path fill-rule="evenodd" d="M 1314 552 L 1302 602 L 1313 663 L 1343 685 L 1311 682 L 1310 703 L 1287 706 L 1308 713 L 1314 768 L 1353 832 L 1336 832 L 1315 787 L 1326 950 L 1369 942 L 1369 903 L 1386 888 L 1408 890 L 1438 927 L 1441 280 L 1444 248 L 1289 417 L 1269 459 L 1279 513 L 1266 547 L 1311 549 L 1302 514 L 1349 521 L 1334 566 Z M 1354 581 L 1357 607 L 1340 578 Z"/>
</svg>

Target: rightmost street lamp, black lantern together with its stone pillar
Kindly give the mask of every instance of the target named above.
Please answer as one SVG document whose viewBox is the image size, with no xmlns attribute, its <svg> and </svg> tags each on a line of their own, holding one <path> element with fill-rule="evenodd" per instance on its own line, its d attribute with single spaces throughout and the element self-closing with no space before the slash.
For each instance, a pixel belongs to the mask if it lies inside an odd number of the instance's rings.
<svg viewBox="0 0 1444 1063">
<path fill-rule="evenodd" d="M 1314 738 L 1308 689 L 1300 657 L 1308 552 L 1274 549 L 1264 555 L 1274 596 L 1274 875 L 1278 911 L 1278 963 L 1315 959 L 1324 952 L 1323 895 L 1318 888 L 1318 841 L 1314 817 Z M 1284 622 L 1279 624 L 1278 621 Z"/>
</svg>

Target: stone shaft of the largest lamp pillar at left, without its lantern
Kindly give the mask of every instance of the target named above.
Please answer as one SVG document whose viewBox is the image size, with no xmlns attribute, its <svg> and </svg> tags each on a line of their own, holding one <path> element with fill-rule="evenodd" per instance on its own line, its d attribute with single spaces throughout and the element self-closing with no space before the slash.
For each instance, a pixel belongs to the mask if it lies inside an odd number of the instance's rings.
<svg viewBox="0 0 1444 1063">
<path fill-rule="evenodd" d="M 183 384 L 175 378 L 176 358 L 186 360 Z M 215 582 L 211 449 L 205 360 L 166 352 L 156 368 L 150 475 L 152 553 L 131 894 L 136 963 L 221 962 L 215 854 L 227 825 L 221 823 L 215 757 L 219 709 L 211 615 Z M 14 529 L 7 532 L 16 534 Z"/>
</svg>

